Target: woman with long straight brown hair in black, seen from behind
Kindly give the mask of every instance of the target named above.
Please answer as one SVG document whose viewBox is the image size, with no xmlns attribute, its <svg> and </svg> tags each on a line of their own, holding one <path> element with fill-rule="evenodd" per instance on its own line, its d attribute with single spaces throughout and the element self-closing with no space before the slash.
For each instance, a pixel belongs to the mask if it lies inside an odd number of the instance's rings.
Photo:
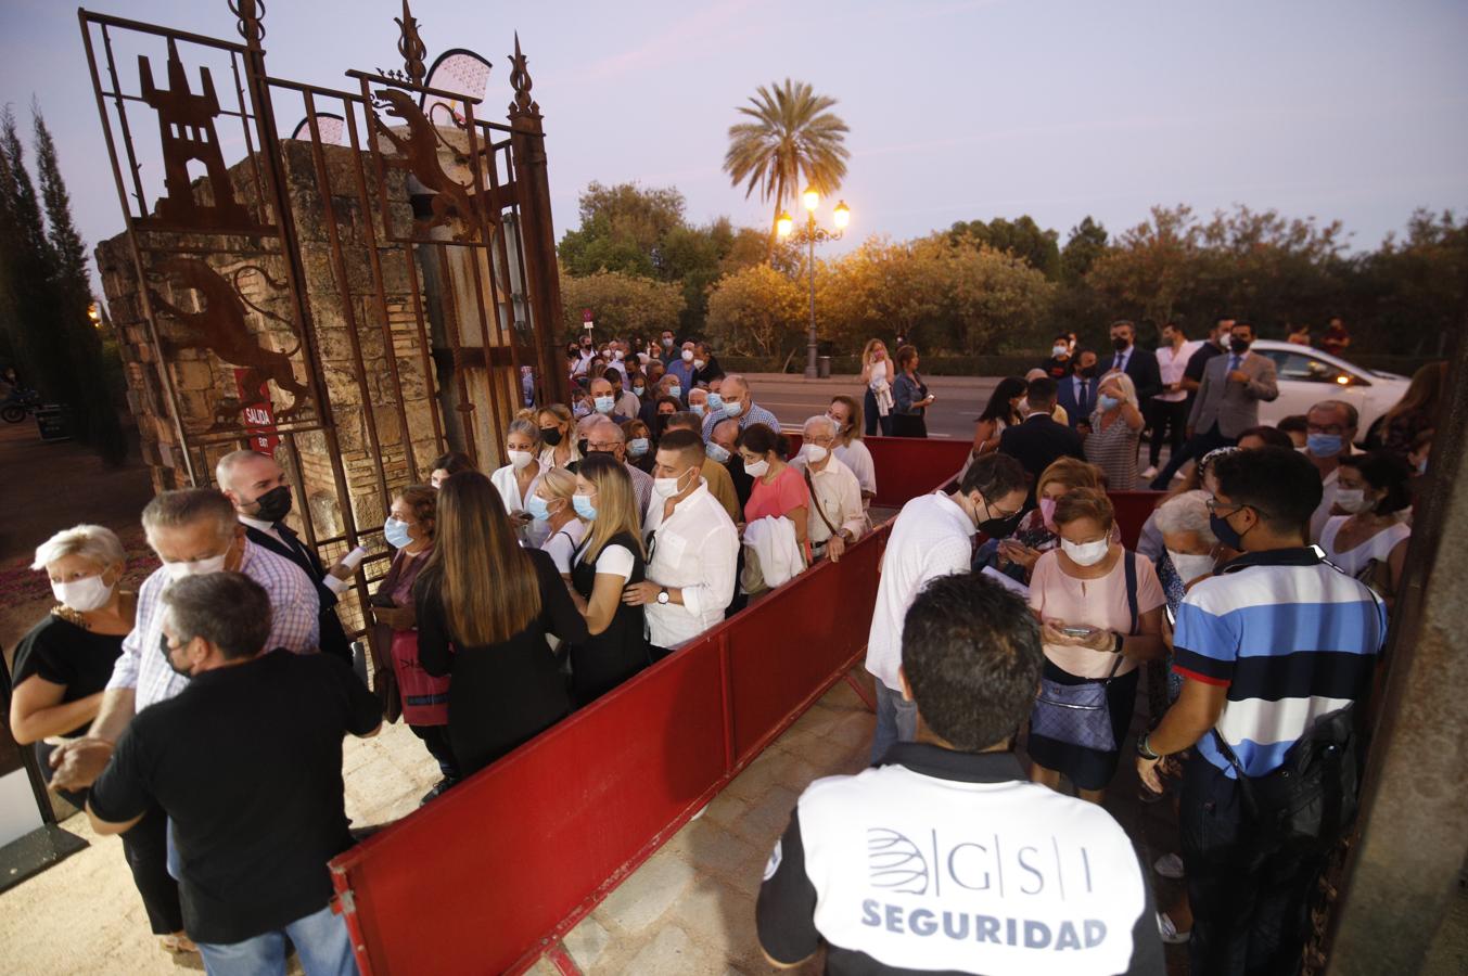
<svg viewBox="0 0 1468 976">
<path fill-rule="evenodd" d="M 520 546 L 483 474 L 443 483 L 435 536 L 413 593 L 418 660 L 454 678 L 449 743 L 468 776 L 571 710 L 546 634 L 584 641 L 586 619 L 550 556 Z"/>
</svg>

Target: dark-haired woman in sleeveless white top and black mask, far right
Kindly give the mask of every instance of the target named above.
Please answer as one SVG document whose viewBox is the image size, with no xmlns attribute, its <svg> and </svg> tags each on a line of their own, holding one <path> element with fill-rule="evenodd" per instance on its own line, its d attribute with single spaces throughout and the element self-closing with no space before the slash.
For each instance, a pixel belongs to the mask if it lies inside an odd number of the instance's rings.
<svg viewBox="0 0 1468 976">
<path fill-rule="evenodd" d="M 1402 522 L 1402 512 L 1412 503 L 1411 480 L 1406 462 L 1386 451 L 1342 458 L 1336 509 L 1348 514 L 1327 520 L 1320 533 L 1326 558 L 1381 594 L 1387 609 L 1402 584 L 1412 534 Z"/>
</svg>

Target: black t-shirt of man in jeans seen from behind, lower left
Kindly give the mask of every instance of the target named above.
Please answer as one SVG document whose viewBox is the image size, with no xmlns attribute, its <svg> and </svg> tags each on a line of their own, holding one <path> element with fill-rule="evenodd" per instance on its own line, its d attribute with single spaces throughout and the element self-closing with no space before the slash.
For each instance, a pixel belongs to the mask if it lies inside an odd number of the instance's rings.
<svg viewBox="0 0 1468 976">
<path fill-rule="evenodd" d="M 173 822 L 184 929 L 241 942 L 330 901 L 326 862 L 352 844 L 342 737 L 380 722 L 336 658 L 275 650 L 206 671 L 132 719 L 91 809 L 119 823 L 157 801 Z"/>
</svg>

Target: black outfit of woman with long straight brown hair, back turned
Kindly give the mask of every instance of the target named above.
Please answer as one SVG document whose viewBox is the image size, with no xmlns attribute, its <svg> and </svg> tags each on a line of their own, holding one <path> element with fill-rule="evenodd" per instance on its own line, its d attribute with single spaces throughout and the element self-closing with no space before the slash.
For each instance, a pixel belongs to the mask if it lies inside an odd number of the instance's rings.
<svg viewBox="0 0 1468 976">
<path fill-rule="evenodd" d="M 499 644 L 467 646 L 449 633 L 435 569 L 424 569 L 414 587 L 418 662 L 432 675 L 454 677 L 448 728 L 461 776 L 483 769 L 571 710 L 546 634 L 586 641 L 586 618 L 571 602 L 550 556 L 539 549 L 524 552 L 540 589 L 540 615 Z"/>
</svg>

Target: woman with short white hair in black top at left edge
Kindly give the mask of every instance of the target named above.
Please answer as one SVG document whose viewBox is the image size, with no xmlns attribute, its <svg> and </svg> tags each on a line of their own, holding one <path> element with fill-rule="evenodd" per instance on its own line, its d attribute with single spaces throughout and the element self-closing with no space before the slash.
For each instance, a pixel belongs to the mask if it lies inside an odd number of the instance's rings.
<svg viewBox="0 0 1468 976">
<path fill-rule="evenodd" d="M 62 740 L 85 735 L 97 718 L 122 640 L 132 631 L 138 596 L 117 586 L 126 562 L 117 536 L 101 525 L 59 531 L 35 550 L 31 568 L 50 577 L 57 606 L 15 649 L 10 734 L 22 746 L 34 743 L 47 779 L 51 750 Z M 87 803 L 85 793 L 59 793 L 76 807 Z M 144 816 L 150 823 L 139 826 L 145 829 L 123 834 L 122 850 L 159 944 L 170 953 L 194 951 L 184 933 L 178 882 L 163 869 L 161 857 L 142 857 L 137 848 L 153 837 L 150 828 L 163 829 L 151 823 L 154 817 L 161 820 L 163 810 Z"/>
</svg>

